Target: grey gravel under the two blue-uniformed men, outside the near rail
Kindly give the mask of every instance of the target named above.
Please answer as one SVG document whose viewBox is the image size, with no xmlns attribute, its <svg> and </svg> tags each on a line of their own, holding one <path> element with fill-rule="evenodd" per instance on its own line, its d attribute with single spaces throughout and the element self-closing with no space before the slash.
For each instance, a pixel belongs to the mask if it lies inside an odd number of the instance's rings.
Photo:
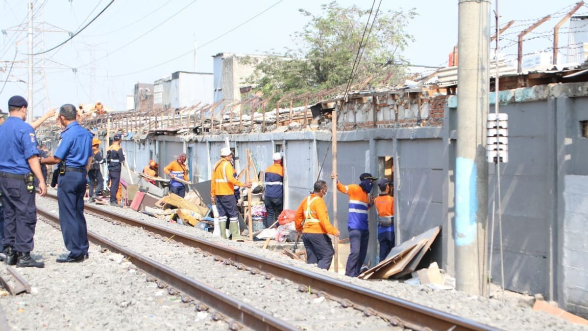
<svg viewBox="0 0 588 331">
<path fill-rule="evenodd" d="M 169 296 L 130 262 L 90 244 L 83 263 L 56 263 L 66 253 L 61 231 L 38 221 L 32 255 L 44 269 L 16 268 L 30 294 L 0 298 L 14 330 L 226 330 L 210 314 Z"/>
</svg>

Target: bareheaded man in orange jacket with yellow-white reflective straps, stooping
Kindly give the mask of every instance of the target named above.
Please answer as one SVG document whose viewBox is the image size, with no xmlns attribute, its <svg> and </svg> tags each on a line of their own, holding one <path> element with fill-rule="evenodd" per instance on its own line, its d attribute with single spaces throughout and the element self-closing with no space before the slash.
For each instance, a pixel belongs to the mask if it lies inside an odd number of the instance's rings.
<svg viewBox="0 0 588 331">
<path fill-rule="evenodd" d="M 302 200 L 298 206 L 294 222 L 296 231 L 302 233 L 306 263 L 316 263 L 319 268 L 329 270 L 335 250 L 327 234 L 339 237 L 340 233 L 330 224 L 327 206 L 323 200 L 327 190 L 325 181 L 316 181 L 313 193 Z"/>
</svg>

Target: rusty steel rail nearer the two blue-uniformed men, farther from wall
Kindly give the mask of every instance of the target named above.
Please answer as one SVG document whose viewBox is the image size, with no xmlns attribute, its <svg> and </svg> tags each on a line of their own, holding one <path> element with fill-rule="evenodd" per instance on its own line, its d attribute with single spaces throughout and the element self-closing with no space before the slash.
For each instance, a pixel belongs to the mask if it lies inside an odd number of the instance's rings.
<svg viewBox="0 0 588 331">
<path fill-rule="evenodd" d="M 59 224 L 59 217 L 54 213 L 51 213 L 44 208 L 37 207 L 37 213 L 45 217 L 48 220 Z M 198 309 L 208 310 L 208 307 L 217 310 L 221 314 L 224 314 L 230 319 L 242 323 L 247 327 L 254 330 L 298 330 L 297 327 L 290 325 L 289 323 L 276 319 L 268 313 L 262 312 L 262 310 L 256 307 L 246 304 L 240 300 L 234 299 L 226 295 L 225 293 L 219 292 L 205 283 L 198 282 L 198 280 L 192 279 L 191 277 L 185 276 L 182 273 L 176 272 L 175 270 L 166 267 L 165 265 L 149 259 L 133 250 L 123 247 L 99 234 L 93 233 L 88 230 L 88 239 L 95 244 L 105 247 L 115 253 L 122 254 L 126 258 L 135 264 L 136 267 L 143 270 L 144 272 L 151 274 L 161 282 L 162 286 L 169 286 L 177 289 L 192 299 L 197 300 L 205 304 L 205 306 L 199 305 Z M 213 313 L 213 319 L 221 320 L 224 317 L 219 313 Z M 229 323 L 229 329 L 238 330 L 239 325 L 235 322 L 227 321 Z"/>
</svg>

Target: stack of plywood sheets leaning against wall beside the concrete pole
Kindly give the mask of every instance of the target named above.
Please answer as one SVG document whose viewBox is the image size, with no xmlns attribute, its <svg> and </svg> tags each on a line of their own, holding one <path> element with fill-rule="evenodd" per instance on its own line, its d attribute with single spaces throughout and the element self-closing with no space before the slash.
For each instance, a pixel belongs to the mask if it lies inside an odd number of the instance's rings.
<svg viewBox="0 0 588 331">
<path fill-rule="evenodd" d="M 385 260 L 361 273 L 358 277 L 360 279 L 387 279 L 402 277 L 414 272 L 435 241 L 440 229 L 441 227 L 434 227 L 394 247 Z"/>
</svg>

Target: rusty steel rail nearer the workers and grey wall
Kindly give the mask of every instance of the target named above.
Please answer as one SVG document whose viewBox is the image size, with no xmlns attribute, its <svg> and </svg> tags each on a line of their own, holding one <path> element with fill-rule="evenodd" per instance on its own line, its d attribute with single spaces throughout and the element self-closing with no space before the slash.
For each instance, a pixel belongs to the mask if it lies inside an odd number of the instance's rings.
<svg viewBox="0 0 588 331">
<path fill-rule="evenodd" d="M 47 194 L 47 197 L 56 196 Z M 339 301 L 343 306 L 350 306 L 362 310 L 365 315 L 381 316 L 394 326 L 403 326 L 413 330 L 495 330 L 495 327 L 475 322 L 442 312 L 421 304 L 399 299 L 375 290 L 366 289 L 343 282 L 322 274 L 299 269 L 288 264 L 256 256 L 245 251 L 208 241 L 202 238 L 168 229 L 147 221 L 135 220 L 112 211 L 105 210 L 91 204 L 85 204 L 89 213 L 108 218 L 130 226 L 140 227 L 145 231 L 167 237 L 189 247 L 195 247 L 210 254 L 229 260 L 233 264 L 247 266 L 252 270 L 259 270 L 273 276 L 289 279 L 302 286 L 300 290 L 310 290 L 319 295 Z"/>
</svg>

